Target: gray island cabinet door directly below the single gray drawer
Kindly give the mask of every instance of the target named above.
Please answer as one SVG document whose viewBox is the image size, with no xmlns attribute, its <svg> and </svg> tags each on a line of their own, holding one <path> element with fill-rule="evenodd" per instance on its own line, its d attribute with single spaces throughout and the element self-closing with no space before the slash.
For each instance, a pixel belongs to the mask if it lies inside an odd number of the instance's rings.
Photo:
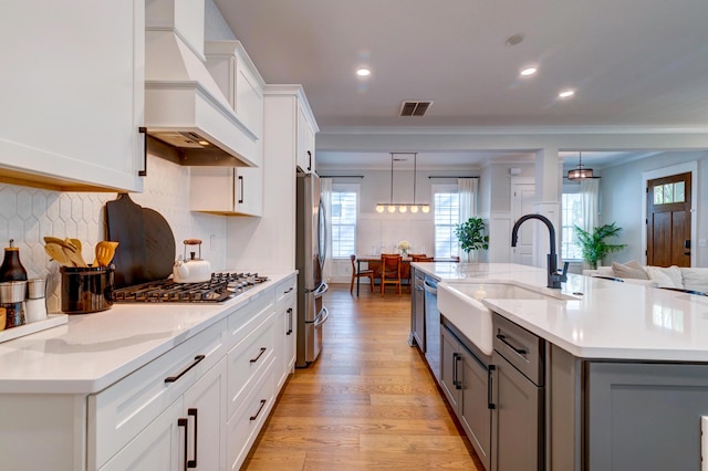
<svg viewBox="0 0 708 471">
<path fill-rule="evenodd" d="M 492 470 L 543 469 L 543 389 L 492 354 Z"/>
</svg>

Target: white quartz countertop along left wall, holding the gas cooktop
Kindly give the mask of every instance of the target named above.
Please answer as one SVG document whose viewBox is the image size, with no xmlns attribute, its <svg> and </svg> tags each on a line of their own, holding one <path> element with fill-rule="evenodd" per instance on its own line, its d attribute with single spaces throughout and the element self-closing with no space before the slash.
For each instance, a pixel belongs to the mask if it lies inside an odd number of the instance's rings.
<svg viewBox="0 0 708 471">
<path fill-rule="evenodd" d="M 294 273 L 294 272 L 293 272 Z M 96 393 L 249 303 L 292 273 L 222 303 L 115 303 L 0 344 L 0 394 Z"/>
</svg>

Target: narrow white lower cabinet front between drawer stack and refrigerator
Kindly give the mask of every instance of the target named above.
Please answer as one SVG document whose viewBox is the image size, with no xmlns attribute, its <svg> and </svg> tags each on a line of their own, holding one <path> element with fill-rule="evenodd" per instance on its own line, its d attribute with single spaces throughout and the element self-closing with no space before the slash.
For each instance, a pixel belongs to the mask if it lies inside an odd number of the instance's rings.
<svg viewBox="0 0 708 471">
<path fill-rule="evenodd" d="M 285 384 L 295 369 L 298 337 L 298 276 L 293 275 L 275 286 L 275 380 L 277 389 Z"/>
</svg>

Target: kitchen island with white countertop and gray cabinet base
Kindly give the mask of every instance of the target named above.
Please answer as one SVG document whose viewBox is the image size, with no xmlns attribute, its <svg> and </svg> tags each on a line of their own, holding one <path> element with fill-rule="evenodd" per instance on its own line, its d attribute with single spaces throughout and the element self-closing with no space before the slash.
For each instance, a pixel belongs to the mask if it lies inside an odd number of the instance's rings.
<svg viewBox="0 0 708 471">
<path fill-rule="evenodd" d="M 541 294 L 478 300 L 491 352 L 440 308 L 438 383 L 489 469 L 701 469 L 707 297 L 580 275 L 550 290 L 544 270 L 511 264 L 414 268 L 439 290 Z"/>
</svg>

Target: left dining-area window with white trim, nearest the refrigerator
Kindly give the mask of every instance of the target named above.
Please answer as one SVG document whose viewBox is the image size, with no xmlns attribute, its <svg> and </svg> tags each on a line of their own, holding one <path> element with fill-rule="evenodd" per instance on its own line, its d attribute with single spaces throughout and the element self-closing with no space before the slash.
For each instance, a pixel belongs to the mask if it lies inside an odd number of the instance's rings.
<svg viewBox="0 0 708 471">
<path fill-rule="evenodd" d="M 332 258 L 348 259 L 356 253 L 358 185 L 332 185 Z"/>
</svg>

